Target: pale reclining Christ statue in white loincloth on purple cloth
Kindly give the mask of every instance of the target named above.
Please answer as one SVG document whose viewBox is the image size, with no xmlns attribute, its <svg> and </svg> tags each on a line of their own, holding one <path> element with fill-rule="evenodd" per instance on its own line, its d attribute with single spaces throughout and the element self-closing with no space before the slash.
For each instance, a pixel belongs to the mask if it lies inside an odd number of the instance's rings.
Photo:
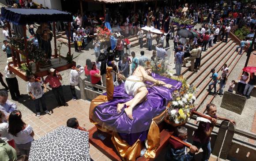
<svg viewBox="0 0 256 161">
<path fill-rule="evenodd" d="M 148 90 L 146 85 L 144 84 L 145 81 L 152 82 L 155 85 L 158 86 L 165 86 L 167 88 L 171 88 L 172 85 L 166 84 L 165 82 L 161 80 L 156 80 L 152 76 L 152 69 L 147 68 L 146 70 L 144 67 L 139 66 L 136 68 L 136 70 L 133 72 L 131 76 L 128 77 L 128 79 L 124 83 L 124 89 L 125 92 L 133 96 L 133 98 L 130 101 L 127 101 L 125 103 L 119 103 L 117 104 L 117 112 L 121 112 L 122 108 L 124 106 L 127 106 L 128 108 L 125 108 L 124 111 L 126 112 L 127 116 L 130 119 L 132 118 L 132 109 L 145 101 L 147 99 Z"/>
</svg>

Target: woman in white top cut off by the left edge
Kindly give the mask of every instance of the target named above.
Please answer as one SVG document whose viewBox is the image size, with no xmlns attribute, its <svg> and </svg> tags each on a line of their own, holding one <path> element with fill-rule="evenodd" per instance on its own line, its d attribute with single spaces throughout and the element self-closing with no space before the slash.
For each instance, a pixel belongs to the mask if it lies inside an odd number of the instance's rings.
<svg viewBox="0 0 256 161">
<path fill-rule="evenodd" d="M 8 142 L 10 146 L 15 149 L 14 139 L 8 134 L 8 122 L 5 120 L 4 112 L 0 111 L 0 138 L 5 142 Z"/>
</svg>

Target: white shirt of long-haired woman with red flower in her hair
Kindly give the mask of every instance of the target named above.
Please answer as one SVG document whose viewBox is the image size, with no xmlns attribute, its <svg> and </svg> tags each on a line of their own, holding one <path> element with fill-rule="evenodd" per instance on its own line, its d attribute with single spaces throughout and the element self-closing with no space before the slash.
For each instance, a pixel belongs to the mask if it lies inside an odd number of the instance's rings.
<svg viewBox="0 0 256 161">
<path fill-rule="evenodd" d="M 26 144 L 32 142 L 34 139 L 30 135 L 33 131 L 33 128 L 30 125 L 27 125 L 25 129 L 19 131 L 16 136 L 12 135 L 16 144 Z"/>
</svg>

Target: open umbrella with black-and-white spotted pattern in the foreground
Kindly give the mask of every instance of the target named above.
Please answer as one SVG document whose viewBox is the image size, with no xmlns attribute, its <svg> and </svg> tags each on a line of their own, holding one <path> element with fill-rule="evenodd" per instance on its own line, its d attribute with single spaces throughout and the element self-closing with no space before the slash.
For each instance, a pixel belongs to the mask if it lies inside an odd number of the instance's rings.
<svg viewBox="0 0 256 161">
<path fill-rule="evenodd" d="M 87 131 L 60 126 L 31 144 L 29 161 L 90 161 Z"/>
</svg>

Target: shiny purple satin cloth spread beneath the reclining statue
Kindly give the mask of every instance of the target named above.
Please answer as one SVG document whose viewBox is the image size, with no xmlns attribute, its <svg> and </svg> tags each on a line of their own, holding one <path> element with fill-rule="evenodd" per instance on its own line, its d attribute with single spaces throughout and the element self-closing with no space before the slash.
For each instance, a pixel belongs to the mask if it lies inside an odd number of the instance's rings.
<svg viewBox="0 0 256 161">
<path fill-rule="evenodd" d="M 121 113 L 117 113 L 118 103 L 125 103 L 133 98 L 126 94 L 124 83 L 114 88 L 113 100 L 102 103 L 94 109 L 94 116 L 98 117 L 105 125 L 111 127 L 111 130 L 114 129 L 114 131 L 118 132 L 120 137 L 129 145 L 133 145 L 138 139 L 140 141 L 147 139 L 152 119 L 166 109 L 167 102 L 172 100 L 173 91 L 179 90 L 182 85 L 181 82 L 158 74 L 152 73 L 152 77 L 173 85 L 173 88 L 168 89 L 164 86 L 147 88 L 147 100 L 134 107 L 132 112 L 133 120 L 128 118 L 124 108 Z M 150 82 L 146 83 L 152 84 Z"/>
</svg>

